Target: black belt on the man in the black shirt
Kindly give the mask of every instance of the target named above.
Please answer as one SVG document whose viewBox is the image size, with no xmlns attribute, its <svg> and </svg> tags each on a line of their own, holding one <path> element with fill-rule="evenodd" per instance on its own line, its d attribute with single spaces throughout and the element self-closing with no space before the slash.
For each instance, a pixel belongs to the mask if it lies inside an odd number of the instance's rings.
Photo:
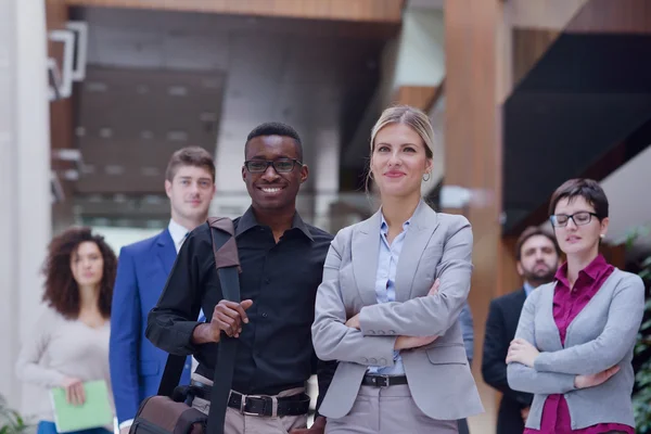
<svg viewBox="0 0 651 434">
<path fill-rule="evenodd" d="M 191 393 L 199 398 L 209 401 L 212 388 L 207 384 L 192 380 Z M 273 413 L 273 400 L 278 403 L 276 413 Z M 271 397 L 260 395 L 248 396 L 231 391 L 228 398 L 228 406 L 247 416 L 302 416 L 309 411 L 309 396 L 304 393 L 293 396 Z"/>
</svg>

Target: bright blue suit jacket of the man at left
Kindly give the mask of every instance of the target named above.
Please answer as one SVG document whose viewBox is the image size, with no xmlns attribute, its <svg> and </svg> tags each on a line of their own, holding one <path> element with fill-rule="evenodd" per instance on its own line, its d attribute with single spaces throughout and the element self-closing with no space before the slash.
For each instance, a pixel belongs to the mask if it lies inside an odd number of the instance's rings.
<svg viewBox="0 0 651 434">
<path fill-rule="evenodd" d="M 158 391 L 167 353 L 144 337 L 144 329 L 175 260 L 176 250 L 167 229 L 120 251 L 108 348 L 118 423 L 136 417 L 140 403 Z M 181 384 L 189 384 L 191 366 L 189 357 Z"/>
</svg>

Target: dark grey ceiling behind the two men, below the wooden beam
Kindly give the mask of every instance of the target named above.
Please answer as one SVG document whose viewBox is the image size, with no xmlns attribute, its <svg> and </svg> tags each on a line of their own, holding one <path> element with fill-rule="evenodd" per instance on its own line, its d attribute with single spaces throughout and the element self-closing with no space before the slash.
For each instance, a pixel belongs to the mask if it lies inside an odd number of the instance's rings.
<svg viewBox="0 0 651 434">
<path fill-rule="evenodd" d="M 248 202 L 240 174 L 243 144 L 256 125 L 269 120 L 301 133 L 311 169 L 304 190 L 337 190 L 342 125 L 363 108 L 384 41 L 397 31 L 107 8 L 74 13 L 89 25 L 88 79 L 75 125 L 87 163 L 77 192 L 86 196 L 77 197 L 77 210 L 111 218 L 163 210 L 142 195 L 162 193 L 167 158 L 188 144 L 215 150 L 214 202 L 240 208 L 233 197 Z M 150 79 L 161 81 L 156 89 Z M 202 91 L 210 80 L 213 87 Z M 141 86 L 150 88 L 148 98 L 138 93 Z M 183 95 L 171 94 L 175 89 Z M 208 114 L 218 116 L 215 128 L 200 122 Z M 116 202 L 113 193 L 136 197 Z"/>
</svg>

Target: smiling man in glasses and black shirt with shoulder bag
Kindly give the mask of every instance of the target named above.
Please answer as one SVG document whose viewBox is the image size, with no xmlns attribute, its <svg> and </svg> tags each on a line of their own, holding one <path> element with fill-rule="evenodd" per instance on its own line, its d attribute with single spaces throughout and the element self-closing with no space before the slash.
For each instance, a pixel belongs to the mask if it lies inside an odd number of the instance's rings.
<svg viewBox="0 0 651 434">
<path fill-rule="evenodd" d="M 305 224 L 296 213 L 296 195 L 308 168 L 294 129 L 263 124 L 248 135 L 244 153 L 242 178 L 252 206 L 233 221 L 242 302 L 222 299 L 210 229 L 202 225 L 184 241 L 149 315 L 145 334 L 170 354 L 194 355 L 199 368 L 193 383 L 207 391 L 207 399 L 220 336 L 239 339 L 227 434 L 244 433 L 244 425 L 247 433 L 253 425 L 269 434 L 321 433 L 326 419 L 319 416 L 305 430 L 307 403 L 301 414 L 283 414 L 281 403 L 305 401 L 305 382 L 316 371 L 318 408 L 334 373 L 335 366 L 316 358 L 310 332 L 332 235 Z M 202 308 L 205 323 L 195 321 Z M 280 418 L 251 416 L 245 405 L 250 395 L 276 396 Z M 209 403 L 197 397 L 193 405 L 207 412 Z"/>
</svg>

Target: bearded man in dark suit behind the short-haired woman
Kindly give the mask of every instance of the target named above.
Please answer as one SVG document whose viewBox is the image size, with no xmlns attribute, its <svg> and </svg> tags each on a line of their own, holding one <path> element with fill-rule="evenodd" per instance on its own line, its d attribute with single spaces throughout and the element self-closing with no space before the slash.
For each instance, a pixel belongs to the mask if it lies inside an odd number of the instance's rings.
<svg viewBox="0 0 651 434">
<path fill-rule="evenodd" d="M 497 416 L 496 434 L 520 434 L 528 416 L 533 395 L 509 387 L 507 352 L 515 336 L 520 312 L 527 295 L 537 286 L 553 279 L 559 266 L 560 250 L 556 239 L 540 228 L 529 227 L 515 245 L 518 273 L 522 289 L 490 302 L 486 320 L 482 375 L 484 381 L 502 393 Z"/>
</svg>

